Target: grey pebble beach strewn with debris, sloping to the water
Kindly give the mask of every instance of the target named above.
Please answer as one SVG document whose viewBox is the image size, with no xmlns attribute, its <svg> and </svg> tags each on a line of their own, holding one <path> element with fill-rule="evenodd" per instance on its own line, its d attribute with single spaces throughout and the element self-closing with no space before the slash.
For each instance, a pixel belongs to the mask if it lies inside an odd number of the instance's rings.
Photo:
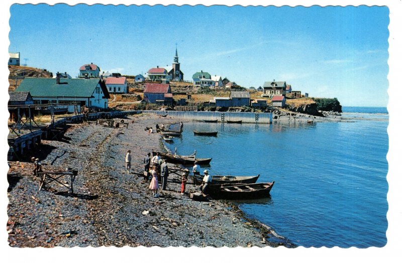
<svg viewBox="0 0 402 263">
<path fill-rule="evenodd" d="M 10 246 L 293 246 L 230 202 L 180 195 L 178 176 L 170 175 L 167 190 L 153 198 L 149 183 L 125 172 L 124 157 L 130 149 L 132 168 L 140 173 L 144 154 L 162 149 L 160 135 L 148 135 L 144 128 L 177 119 L 129 118 L 134 123 L 127 129 L 71 124 L 62 140 L 44 140 L 25 159 L 9 162 Z M 45 170 L 78 169 L 74 195 L 57 184 L 38 192 L 30 156 L 39 157 Z M 187 193 L 192 191 L 196 187 L 187 185 Z"/>
</svg>

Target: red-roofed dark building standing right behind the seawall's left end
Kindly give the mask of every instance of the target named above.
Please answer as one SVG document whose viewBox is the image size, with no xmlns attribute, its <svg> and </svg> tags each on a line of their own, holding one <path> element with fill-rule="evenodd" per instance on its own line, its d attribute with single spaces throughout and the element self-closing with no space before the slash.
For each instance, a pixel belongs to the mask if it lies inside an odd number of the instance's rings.
<svg viewBox="0 0 402 263">
<path fill-rule="evenodd" d="M 173 94 L 170 84 L 147 83 L 144 89 L 144 100 L 148 103 L 172 104 Z"/>
</svg>

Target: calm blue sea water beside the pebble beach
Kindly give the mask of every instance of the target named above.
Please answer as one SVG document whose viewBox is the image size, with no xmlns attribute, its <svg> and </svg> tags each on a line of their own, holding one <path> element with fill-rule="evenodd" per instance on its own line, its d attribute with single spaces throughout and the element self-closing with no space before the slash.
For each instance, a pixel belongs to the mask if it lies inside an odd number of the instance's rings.
<svg viewBox="0 0 402 263">
<path fill-rule="evenodd" d="M 356 121 L 185 123 L 182 138 L 167 147 L 212 157 L 211 174 L 275 181 L 269 198 L 236 202 L 296 245 L 381 247 L 387 242 L 388 114 L 386 108 L 343 110 Z M 193 129 L 218 130 L 218 136 L 194 136 Z"/>
</svg>

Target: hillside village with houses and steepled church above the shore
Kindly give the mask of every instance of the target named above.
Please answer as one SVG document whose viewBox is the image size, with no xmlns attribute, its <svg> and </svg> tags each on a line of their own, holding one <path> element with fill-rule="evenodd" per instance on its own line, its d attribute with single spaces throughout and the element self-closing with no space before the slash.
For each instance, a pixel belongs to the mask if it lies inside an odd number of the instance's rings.
<svg viewBox="0 0 402 263">
<path fill-rule="evenodd" d="M 179 111 L 297 111 L 322 116 L 319 110 L 341 112 L 336 107 L 320 108 L 320 99 L 292 89 L 284 80 L 265 81 L 259 87 L 242 87 L 235 80 L 200 70 L 184 78 L 177 48 L 171 66 L 156 66 L 147 73 L 122 75 L 105 72 L 93 63 L 79 67 L 72 78 L 67 72 L 20 65 L 20 53 L 10 53 L 9 104 L 76 103 L 78 112 L 98 110 L 166 109 Z M 317 103 L 319 103 L 317 105 Z M 331 101 L 333 103 L 333 101 Z M 322 103 L 321 103 L 322 104 Z M 65 106 L 65 110 L 73 111 Z"/>
</svg>

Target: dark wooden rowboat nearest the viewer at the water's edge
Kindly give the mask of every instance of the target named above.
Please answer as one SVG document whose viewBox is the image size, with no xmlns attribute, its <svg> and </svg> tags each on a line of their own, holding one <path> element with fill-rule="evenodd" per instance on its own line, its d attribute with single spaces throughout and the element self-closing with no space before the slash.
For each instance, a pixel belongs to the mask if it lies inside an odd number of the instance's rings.
<svg viewBox="0 0 402 263">
<path fill-rule="evenodd" d="M 215 199 L 263 198 L 269 196 L 274 183 L 211 185 L 208 194 Z"/>
</svg>

